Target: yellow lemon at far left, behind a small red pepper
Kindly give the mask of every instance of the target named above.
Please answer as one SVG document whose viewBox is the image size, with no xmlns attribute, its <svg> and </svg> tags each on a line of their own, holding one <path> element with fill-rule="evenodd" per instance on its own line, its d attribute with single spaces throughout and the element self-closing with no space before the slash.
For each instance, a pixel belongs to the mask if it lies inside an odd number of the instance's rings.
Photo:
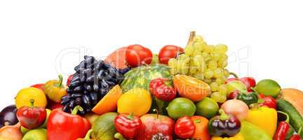
<svg viewBox="0 0 303 140">
<path fill-rule="evenodd" d="M 20 90 L 15 97 L 15 105 L 17 109 L 22 106 L 31 106 L 31 100 L 34 100 L 34 106 L 46 107 L 46 95 L 35 87 L 26 87 Z"/>
</svg>

